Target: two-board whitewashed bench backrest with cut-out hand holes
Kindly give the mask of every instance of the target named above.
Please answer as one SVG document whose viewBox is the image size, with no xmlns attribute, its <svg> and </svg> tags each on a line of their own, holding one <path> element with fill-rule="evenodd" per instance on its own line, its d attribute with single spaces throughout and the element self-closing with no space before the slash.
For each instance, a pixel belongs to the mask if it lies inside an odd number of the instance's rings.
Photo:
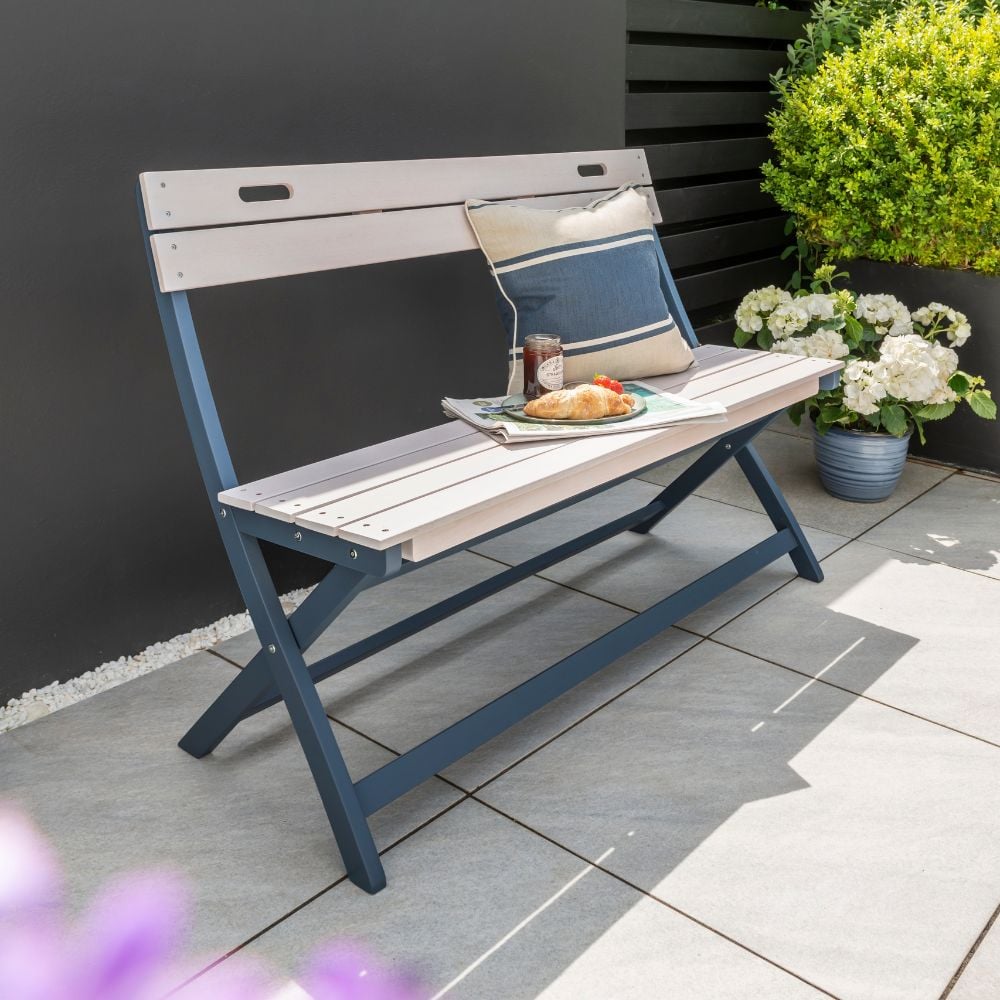
<svg viewBox="0 0 1000 1000">
<path fill-rule="evenodd" d="M 172 170 L 139 184 L 163 292 L 473 250 L 468 198 L 563 208 L 637 184 L 660 220 L 641 149 Z"/>
</svg>

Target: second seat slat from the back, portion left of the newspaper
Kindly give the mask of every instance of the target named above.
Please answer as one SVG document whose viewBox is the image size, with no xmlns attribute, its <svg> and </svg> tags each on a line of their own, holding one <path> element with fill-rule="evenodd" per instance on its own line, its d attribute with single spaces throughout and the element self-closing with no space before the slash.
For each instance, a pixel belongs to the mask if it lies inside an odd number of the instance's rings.
<svg viewBox="0 0 1000 1000">
<path fill-rule="evenodd" d="M 275 517 L 279 521 L 293 521 L 300 514 L 320 508 L 333 507 L 339 514 L 341 512 L 339 505 L 344 504 L 349 497 L 356 498 L 358 494 L 367 496 L 378 487 L 384 487 L 408 476 L 415 476 L 436 469 L 438 466 L 451 465 L 481 452 L 500 448 L 499 441 L 480 434 L 473 428 L 469 429 L 473 431 L 471 436 L 457 438 L 434 448 L 425 448 L 423 451 L 403 455 L 388 462 L 380 462 L 365 469 L 352 470 L 343 476 L 337 476 L 336 479 L 326 479 L 304 490 L 279 494 L 265 502 L 254 504 L 254 510 L 258 514 Z"/>
</svg>

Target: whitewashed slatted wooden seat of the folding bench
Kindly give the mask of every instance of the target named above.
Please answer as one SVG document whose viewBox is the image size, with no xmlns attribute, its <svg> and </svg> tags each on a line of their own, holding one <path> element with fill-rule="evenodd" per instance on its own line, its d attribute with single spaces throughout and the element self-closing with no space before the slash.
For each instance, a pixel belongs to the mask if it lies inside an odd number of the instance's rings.
<svg viewBox="0 0 1000 1000">
<path fill-rule="evenodd" d="M 733 347 L 649 379 L 727 407 L 721 422 L 501 444 L 460 422 L 219 493 L 219 501 L 419 561 L 612 479 L 648 468 L 816 392 L 839 363 Z"/>
</svg>

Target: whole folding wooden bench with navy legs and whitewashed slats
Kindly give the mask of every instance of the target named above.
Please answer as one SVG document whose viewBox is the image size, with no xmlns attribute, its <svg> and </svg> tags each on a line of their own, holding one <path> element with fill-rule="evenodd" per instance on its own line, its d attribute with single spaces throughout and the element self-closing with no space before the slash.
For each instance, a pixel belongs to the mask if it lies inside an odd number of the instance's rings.
<svg viewBox="0 0 1000 1000">
<path fill-rule="evenodd" d="M 690 398 L 724 403 L 723 423 L 503 445 L 452 422 L 240 483 L 187 290 L 472 251 L 477 245 L 462 207 L 467 198 L 556 208 L 586 204 L 626 183 L 641 186 L 660 221 L 645 154 L 637 149 L 140 177 L 143 238 L 184 415 L 262 645 L 180 746 L 202 757 L 241 720 L 283 701 L 348 875 L 368 892 L 385 885 L 367 822 L 372 813 L 786 553 L 800 576 L 822 579 L 802 529 L 752 441 L 783 409 L 835 384 L 841 365 L 698 346 L 661 251 L 663 293 L 697 364 L 651 381 Z M 462 391 L 484 390 L 469 385 Z M 708 442 L 714 443 L 641 509 L 306 665 L 303 653 L 362 590 Z M 351 778 L 316 691 L 318 681 L 613 535 L 648 532 L 731 458 L 760 498 L 773 535 L 377 771 L 359 781 Z M 261 539 L 331 564 L 287 617 L 261 555 Z"/>
</svg>

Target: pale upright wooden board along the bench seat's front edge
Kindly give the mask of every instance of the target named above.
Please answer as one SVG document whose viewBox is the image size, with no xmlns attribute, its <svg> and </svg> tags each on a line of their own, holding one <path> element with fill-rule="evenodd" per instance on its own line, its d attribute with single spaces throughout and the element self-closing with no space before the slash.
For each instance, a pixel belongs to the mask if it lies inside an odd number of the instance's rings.
<svg viewBox="0 0 1000 1000">
<path fill-rule="evenodd" d="M 742 427 L 761 417 L 766 417 L 775 410 L 791 406 L 807 395 L 816 391 L 817 383 L 811 382 L 798 385 L 780 392 L 775 392 L 763 399 L 755 400 L 746 406 L 734 410 L 727 425 L 690 424 L 678 427 L 676 435 L 670 441 L 670 453 L 687 451 L 713 440 L 720 433 Z M 625 471 L 622 471 L 623 461 Z M 502 505 L 494 505 L 472 514 L 458 514 L 439 522 L 437 525 L 423 529 L 420 533 L 404 542 L 403 558 L 414 561 L 429 559 L 439 552 L 445 552 L 456 546 L 463 545 L 473 538 L 478 538 L 491 531 L 502 528 L 530 514 L 544 510 L 547 506 L 569 500 L 580 493 L 594 489 L 602 483 L 609 482 L 622 475 L 638 472 L 657 462 L 665 461 L 664 442 L 661 438 L 650 438 L 645 443 L 630 450 L 624 457 L 616 456 L 605 462 L 594 462 L 591 465 L 577 466 L 563 474 L 554 484 L 546 484 L 537 491 L 530 488 L 517 496 L 511 497 Z M 346 536 L 345 536 L 346 537 Z"/>
</svg>

